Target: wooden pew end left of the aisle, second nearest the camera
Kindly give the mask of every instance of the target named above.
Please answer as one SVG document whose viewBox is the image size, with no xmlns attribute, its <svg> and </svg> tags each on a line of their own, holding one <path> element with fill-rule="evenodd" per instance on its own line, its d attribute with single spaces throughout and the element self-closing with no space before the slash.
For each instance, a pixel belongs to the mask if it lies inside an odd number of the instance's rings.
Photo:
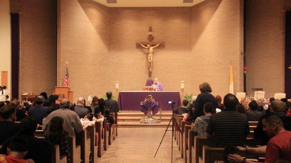
<svg viewBox="0 0 291 163">
<path fill-rule="evenodd" d="M 69 152 L 72 163 L 81 163 L 81 146 L 76 145 L 76 136 L 69 137 Z"/>
</svg>

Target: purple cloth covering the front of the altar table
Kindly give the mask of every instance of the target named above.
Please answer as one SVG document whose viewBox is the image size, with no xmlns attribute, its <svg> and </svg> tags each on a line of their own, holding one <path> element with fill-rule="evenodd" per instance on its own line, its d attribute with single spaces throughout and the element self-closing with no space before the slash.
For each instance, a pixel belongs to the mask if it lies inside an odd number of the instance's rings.
<svg viewBox="0 0 291 163">
<path fill-rule="evenodd" d="M 118 105 L 121 111 L 134 110 L 140 111 L 141 102 L 147 95 L 154 96 L 155 101 L 162 105 L 162 110 L 171 111 L 172 106 L 168 101 L 174 101 L 174 109 L 181 105 L 180 92 L 178 91 L 120 91 L 118 96 Z"/>
</svg>

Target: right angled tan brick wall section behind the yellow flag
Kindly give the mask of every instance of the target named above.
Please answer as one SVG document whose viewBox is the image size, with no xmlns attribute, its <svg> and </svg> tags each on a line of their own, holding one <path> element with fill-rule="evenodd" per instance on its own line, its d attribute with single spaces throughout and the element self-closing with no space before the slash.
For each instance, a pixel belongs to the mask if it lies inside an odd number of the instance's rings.
<svg viewBox="0 0 291 163">
<path fill-rule="evenodd" d="M 243 91 L 243 1 L 206 0 L 191 10 L 192 54 L 185 83 L 194 94 L 208 82 L 212 94 L 224 97 L 229 90 L 230 63 L 234 93 Z M 183 62 L 183 60 L 181 60 Z M 186 85 L 186 84 L 185 84 Z M 190 89 L 190 90 L 189 90 Z"/>
</svg>

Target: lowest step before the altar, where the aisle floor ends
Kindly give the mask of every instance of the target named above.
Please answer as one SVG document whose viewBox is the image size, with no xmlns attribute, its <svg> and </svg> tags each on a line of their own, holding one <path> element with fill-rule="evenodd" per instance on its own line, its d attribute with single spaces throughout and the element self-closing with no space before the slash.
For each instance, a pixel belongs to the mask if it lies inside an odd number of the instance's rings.
<svg viewBox="0 0 291 163">
<path fill-rule="evenodd" d="M 162 121 L 161 123 L 140 123 L 140 122 L 117 122 L 118 127 L 163 127 L 166 129 L 166 127 L 169 124 L 169 121 Z M 172 129 L 172 122 L 170 123 L 169 130 Z M 170 132 L 170 131 L 168 131 Z"/>
</svg>

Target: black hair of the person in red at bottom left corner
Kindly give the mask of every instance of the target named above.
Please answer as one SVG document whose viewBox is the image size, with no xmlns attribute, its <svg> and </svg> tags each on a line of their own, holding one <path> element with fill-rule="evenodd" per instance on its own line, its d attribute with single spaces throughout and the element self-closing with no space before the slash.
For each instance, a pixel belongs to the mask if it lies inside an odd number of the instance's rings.
<svg viewBox="0 0 291 163">
<path fill-rule="evenodd" d="M 26 152 L 28 151 L 28 141 L 23 138 L 16 136 L 14 137 L 8 145 L 8 148 L 14 152 Z"/>
</svg>

